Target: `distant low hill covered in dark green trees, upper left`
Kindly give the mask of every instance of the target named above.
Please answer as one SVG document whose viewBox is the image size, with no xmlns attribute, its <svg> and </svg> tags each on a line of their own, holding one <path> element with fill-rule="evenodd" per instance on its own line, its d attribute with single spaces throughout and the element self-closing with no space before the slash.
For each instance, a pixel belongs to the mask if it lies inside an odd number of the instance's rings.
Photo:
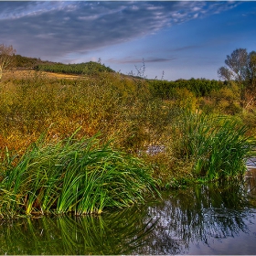
<svg viewBox="0 0 256 256">
<path fill-rule="evenodd" d="M 16 69 L 35 69 L 47 72 L 63 73 L 63 74 L 86 74 L 93 75 L 101 72 L 114 72 L 109 67 L 99 62 L 86 62 L 78 64 L 63 64 L 37 58 L 28 58 L 16 55 Z"/>
</svg>

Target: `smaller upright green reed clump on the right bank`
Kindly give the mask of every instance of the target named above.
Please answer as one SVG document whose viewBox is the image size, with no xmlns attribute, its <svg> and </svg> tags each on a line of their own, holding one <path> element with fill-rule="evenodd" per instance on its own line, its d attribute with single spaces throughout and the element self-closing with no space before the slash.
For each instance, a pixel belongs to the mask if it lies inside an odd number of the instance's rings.
<svg viewBox="0 0 256 256">
<path fill-rule="evenodd" d="M 185 111 L 176 125 L 176 153 L 194 162 L 196 176 L 240 176 L 255 148 L 247 133 L 246 126 L 230 117 Z"/>
</svg>

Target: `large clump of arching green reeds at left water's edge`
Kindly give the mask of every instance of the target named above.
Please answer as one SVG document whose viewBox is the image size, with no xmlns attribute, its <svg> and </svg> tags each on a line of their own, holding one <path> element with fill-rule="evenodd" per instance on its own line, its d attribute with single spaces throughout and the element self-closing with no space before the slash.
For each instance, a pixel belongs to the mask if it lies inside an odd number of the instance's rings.
<svg viewBox="0 0 256 256">
<path fill-rule="evenodd" d="M 15 163 L 15 161 L 17 163 Z M 155 195 L 150 170 L 137 158 L 90 139 L 32 144 L 20 159 L 2 168 L 0 216 L 31 214 L 100 214 Z"/>
</svg>

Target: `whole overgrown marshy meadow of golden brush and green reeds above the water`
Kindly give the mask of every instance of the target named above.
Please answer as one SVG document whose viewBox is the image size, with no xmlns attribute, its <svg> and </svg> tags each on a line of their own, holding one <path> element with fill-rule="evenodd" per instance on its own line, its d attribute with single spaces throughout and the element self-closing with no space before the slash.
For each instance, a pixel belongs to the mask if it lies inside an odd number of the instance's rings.
<svg viewBox="0 0 256 256">
<path fill-rule="evenodd" d="M 0 218 L 100 214 L 254 155 L 254 101 L 232 81 L 13 70 L 0 102 Z"/>
</svg>

